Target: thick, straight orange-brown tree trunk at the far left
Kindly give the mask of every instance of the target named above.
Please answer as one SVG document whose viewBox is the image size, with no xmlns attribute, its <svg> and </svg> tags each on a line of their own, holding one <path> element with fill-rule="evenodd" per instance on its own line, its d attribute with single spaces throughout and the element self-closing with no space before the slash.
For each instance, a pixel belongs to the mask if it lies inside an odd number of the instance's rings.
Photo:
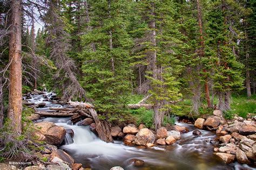
<svg viewBox="0 0 256 170">
<path fill-rule="evenodd" d="M 11 25 L 9 40 L 10 86 L 8 118 L 11 120 L 14 136 L 22 132 L 22 42 L 21 42 L 22 1 L 11 1 Z"/>
</svg>

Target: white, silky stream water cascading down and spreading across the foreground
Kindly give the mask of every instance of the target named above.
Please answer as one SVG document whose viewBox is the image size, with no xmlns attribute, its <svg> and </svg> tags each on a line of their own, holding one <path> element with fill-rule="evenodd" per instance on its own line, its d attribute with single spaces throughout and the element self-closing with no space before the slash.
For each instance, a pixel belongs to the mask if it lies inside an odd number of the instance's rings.
<svg viewBox="0 0 256 170">
<path fill-rule="evenodd" d="M 49 98 L 51 96 L 48 93 Z M 32 96 L 29 102 L 41 103 L 42 100 Z M 38 98 L 37 100 L 35 100 Z M 46 103 L 46 102 L 45 102 Z M 59 104 L 46 103 L 45 108 L 63 107 Z M 65 106 L 64 106 L 65 107 Z M 92 169 L 110 169 L 113 166 L 121 166 L 124 169 L 253 169 L 247 165 L 240 165 L 237 162 L 226 165 L 213 155 L 215 135 L 213 132 L 200 130 L 200 136 L 194 136 L 195 129 L 191 124 L 177 123 L 186 126 L 190 132 L 181 134 L 181 139 L 171 146 L 155 146 L 142 148 L 138 146 L 125 146 L 122 141 L 105 143 L 90 131 L 89 126 L 72 125 L 69 118 L 42 118 L 39 121 L 53 122 L 65 129 L 74 131 L 73 143 L 69 134 L 65 138 L 65 144 L 60 149 L 68 152 L 76 162 L 83 164 L 83 167 Z M 136 167 L 133 161 L 144 160 L 143 167 Z"/>
</svg>

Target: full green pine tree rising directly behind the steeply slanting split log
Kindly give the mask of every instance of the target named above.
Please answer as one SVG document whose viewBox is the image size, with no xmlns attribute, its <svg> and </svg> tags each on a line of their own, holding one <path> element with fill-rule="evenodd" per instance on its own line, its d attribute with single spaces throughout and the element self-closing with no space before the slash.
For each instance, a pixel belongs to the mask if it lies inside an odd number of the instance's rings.
<svg viewBox="0 0 256 170">
<path fill-rule="evenodd" d="M 132 41 L 126 32 L 125 5 L 125 1 L 92 2 L 92 29 L 82 36 L 87 47 L 82 53 L 85 88 L 95 100 L 97 110 L 108 114 L 122 112 L 132 90 L 129 64 Z"/>
</svg>

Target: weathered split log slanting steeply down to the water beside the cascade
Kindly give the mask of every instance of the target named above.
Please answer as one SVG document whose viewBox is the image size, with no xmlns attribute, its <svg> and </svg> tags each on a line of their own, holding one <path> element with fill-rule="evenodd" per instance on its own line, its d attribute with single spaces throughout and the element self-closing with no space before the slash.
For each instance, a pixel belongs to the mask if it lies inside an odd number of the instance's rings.
<svg viewBox="0 0 256 170">
<path fill-rule="evenodd" d="M 106 121 L 100 121 L 97 112 L 93 108 L 89 108 L 89 111 L 96 124 L 96 131 L 98 132 L 99 138 L 107 143 L 113 142 L 109 124 Z"/>
</svg>

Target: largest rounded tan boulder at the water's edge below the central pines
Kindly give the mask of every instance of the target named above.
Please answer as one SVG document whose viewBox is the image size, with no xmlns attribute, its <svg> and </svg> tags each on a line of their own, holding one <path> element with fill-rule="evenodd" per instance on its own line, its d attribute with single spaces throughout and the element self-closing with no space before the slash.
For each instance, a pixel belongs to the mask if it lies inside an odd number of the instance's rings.
<svg viewBox="0 0 256 170">
<path fill-rule="evenodd" d="M 156 137 L 154 136 L 154 133 L 151 132 L 149 129 L 144 128 L 139 130 L 139 132 L 136 134 L 134 141 L 137 145 L 146 146 L 147 143 L 153 144 L 155 140 Z"/>
</svg>

